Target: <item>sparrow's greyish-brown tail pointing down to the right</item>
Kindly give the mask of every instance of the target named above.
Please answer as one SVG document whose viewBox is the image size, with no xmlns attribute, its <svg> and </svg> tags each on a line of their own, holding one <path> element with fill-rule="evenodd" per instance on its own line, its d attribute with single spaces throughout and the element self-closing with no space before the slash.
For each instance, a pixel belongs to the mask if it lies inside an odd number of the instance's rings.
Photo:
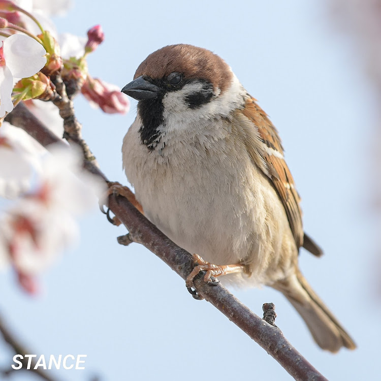
<svg viewBox="0 0 381 381">
<path fill-rule="evenodd" d="M 342 346 L 351 350 L 356 348 L 350 335 L 315 294 L 299 270 L 291 277 L 273 284 L 272 287 L 291 302 L 321 348 L 333 353 Z"/>
</svg>

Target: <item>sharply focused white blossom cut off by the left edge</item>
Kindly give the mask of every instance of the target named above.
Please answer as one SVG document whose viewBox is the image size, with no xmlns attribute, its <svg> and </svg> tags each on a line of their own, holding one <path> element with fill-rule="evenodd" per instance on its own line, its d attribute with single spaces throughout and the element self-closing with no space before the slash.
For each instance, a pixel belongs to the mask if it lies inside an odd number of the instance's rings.
<svg viewBox="0 0 381 381">
<path fill-rule="evenodd" d="M 36 74 L 45 63 L 46 50 L 33 38 L 15 34 L 3 41 L 0 48 L 0 118 L 13 110 L 13 79 Z"/>
</svg>

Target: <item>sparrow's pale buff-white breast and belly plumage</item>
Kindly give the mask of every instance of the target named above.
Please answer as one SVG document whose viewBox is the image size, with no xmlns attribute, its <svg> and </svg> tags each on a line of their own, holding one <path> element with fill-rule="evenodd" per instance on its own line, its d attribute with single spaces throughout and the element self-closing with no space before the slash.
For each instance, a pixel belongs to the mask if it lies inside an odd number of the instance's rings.
<svg viewBox="0 0 381 381">
<path fill-rule="evenodd" d="M 185 104 L 183 111 L 170 113 L 168 107 L 179 101 L 169 93 L 160 144 L 152 151 L 141 144 L 137 117 L 123 140 L 123 165 L 145 215 L 163 233 L 211 263 L 250 265 L 251 277 L 226 278 L 258 285 L 284 277 L 277 264 L 282 237 L 291 230 L 269 179 L 232 123 L 225 118 L 210 123 L 210 115 L 228 116 L 238 107 L 239 92 L 243 97 L 234 77 L 231 88 L 201 114 Z M 283 218 L 274 217 L 279 215 Z"/>
</svg>

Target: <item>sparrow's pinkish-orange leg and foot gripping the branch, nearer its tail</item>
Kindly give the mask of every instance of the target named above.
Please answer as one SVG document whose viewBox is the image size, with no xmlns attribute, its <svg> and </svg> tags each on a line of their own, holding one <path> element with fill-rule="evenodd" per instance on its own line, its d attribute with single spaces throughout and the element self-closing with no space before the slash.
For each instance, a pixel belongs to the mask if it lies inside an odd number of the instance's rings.
<svg viewBox="0 0 381 381">
<path fill-rule="evenodd" d="M 192 270 L 192 272 L 188 275 L 185 281 L 186 287 L 188 289 L 193 287 L 193 280 L 195 279 L 196 275 L 199 274 L 201 271 L 206 271 L 204 275 L 204 281 L 206 283 L 216 285 L 219 282 L 219 280 L 211 279 L 212 276 L 217 277 L 221 275 L 243 272 L 244 270 L 244 266 L 239 264 L 221 266 L 213 265 L 212 263 L 204 261 L 198 254 L 193 254 L 192 259 L 195 264 L 195 267 Z"/>
</svg>

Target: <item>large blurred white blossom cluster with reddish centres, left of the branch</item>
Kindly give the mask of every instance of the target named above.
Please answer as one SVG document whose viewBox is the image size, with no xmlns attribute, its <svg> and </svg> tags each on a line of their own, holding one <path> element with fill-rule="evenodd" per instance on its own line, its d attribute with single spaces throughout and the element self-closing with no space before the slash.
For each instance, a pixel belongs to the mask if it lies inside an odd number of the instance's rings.
<svg viewBox="0 0 381 381">
<path fill-rule="evenodd" d="M 75 217 L 97 206 L 103 182 L 82 171 L 71 149 L 46 154 L 33 192 L 8 208 L 0 219 L 0 266 L 11 265 L 21 287 L 33 293 L 36 276 L 78 238 Z"/>
</svg>

